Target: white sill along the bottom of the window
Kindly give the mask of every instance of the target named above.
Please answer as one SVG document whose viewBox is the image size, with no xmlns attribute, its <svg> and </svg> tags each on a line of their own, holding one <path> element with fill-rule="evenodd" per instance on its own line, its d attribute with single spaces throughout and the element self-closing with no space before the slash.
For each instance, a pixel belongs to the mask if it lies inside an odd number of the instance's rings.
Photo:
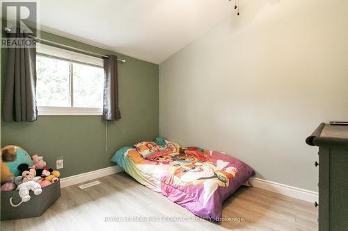
<svg viewBox="0 0 348 231">
<path fill-rule="evenodd" d="M 38 107 L 38 116 L 101 116 L 102 108 Z"/>
</svg>

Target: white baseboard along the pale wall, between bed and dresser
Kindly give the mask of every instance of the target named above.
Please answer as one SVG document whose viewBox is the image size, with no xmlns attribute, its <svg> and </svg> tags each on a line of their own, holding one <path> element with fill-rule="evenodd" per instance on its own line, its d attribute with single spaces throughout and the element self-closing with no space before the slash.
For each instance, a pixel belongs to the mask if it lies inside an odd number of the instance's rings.
<svg viewBox="0 0 348 231">
<path fill-rule="evenodd" d="M 283 185 L 277 182 L 272 182 L 269 180 L 263 180 L 260 178 L 253 178 L 251 180 L 252 184 L 256 188 L 264 189 L 267 191 L 273 191 L 277 194 L 282 194 L 285 196 L 290 196 L 299 200 L 305 200 L 310 203 L 318 201 L 318 193 L 316 191 L 310 191 L 306 189 L 300 189 L 297 187 L 292 187 L 290 185 Z"/>
</svg>

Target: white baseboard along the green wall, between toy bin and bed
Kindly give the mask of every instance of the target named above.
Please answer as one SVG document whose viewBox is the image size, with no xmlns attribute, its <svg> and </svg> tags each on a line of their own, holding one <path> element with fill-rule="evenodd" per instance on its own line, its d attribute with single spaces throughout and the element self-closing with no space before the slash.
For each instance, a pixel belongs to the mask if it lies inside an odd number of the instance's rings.
<svg viewBox="0 0 348 231">
<path fill-rule="evenodd" d="M 68 176 L 67 178 L 61 178 L 61 188 L 68 187 L 70 185 L 76 185 L 88 180 L 94 180 L 97 178 L 102 178 L 103 176 L 108 176 L 114 173 L 123 171 L 120 166 L 109 166 L 105 169 L 98 169 L 95 171 L 89 171 L 88 173 L 81 173 L 79 175 Z"/>
</svg>

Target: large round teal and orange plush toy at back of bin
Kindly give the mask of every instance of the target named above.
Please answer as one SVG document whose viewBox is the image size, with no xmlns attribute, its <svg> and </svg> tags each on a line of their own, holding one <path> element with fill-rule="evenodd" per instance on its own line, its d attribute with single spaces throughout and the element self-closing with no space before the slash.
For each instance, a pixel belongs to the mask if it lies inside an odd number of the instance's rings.
<svg viewBox="0 0 348 231">
<path fill-rule="evenodd" d="M 18 166 L 26 164 L 32 166 L 33 161 L 29 154 L 19 146 L 9 145 L 0 149 L 1 155 L 1 182 L 7 182 L 7 179 L 13 176 L 20 176 L 21 171 Z"/>
</svg>

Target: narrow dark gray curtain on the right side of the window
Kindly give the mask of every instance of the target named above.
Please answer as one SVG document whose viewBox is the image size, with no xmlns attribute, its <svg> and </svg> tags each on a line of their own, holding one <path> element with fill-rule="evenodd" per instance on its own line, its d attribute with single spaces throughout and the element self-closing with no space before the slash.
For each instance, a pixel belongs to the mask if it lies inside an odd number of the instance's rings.
<svg viewBox="0 0 348 231">
<path fill-rule="evenodd" d="M 103 117 L 106 121 L 121 119 L 118 108 L 118 70 L 117 56 L 104 58 L 104 106 Z"/>
</svg>

